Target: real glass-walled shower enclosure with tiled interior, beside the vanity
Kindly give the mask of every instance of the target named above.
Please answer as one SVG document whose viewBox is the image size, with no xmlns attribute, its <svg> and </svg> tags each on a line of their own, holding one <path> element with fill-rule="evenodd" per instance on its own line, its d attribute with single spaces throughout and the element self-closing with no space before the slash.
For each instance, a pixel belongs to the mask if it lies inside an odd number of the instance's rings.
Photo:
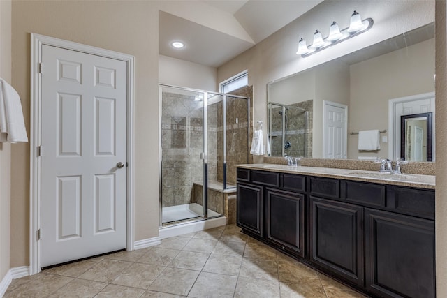
<svg viewBox="0 0 447 298">
<path fill-rule="evenodd" d="M 161 84 L 160 107 L 160 225 L 222 216 L 248 163 L 249 98 Z"/>
</svg>

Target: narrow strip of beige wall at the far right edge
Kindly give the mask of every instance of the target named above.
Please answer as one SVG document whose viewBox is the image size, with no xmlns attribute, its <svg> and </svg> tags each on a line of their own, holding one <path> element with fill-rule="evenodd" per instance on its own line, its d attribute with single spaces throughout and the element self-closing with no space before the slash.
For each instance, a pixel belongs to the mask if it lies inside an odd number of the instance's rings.
<svg viewBox="0 0 447 298">
<path fill-rule="evenodd" d="M 447 9 L 436 1 L 436 147 L 447 147 Z M 447 297 L 447 154 L 436 161 L 436 294 Z"/>
</svg>

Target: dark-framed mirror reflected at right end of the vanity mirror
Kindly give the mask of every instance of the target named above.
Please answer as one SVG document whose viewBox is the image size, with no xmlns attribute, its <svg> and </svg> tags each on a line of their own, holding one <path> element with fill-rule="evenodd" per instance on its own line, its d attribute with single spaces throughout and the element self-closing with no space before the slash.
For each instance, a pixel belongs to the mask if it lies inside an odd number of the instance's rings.
<svg viewBox="0 0 447 298">
<path fill-rule="evenodd" d="M 400 157 L 405 161 L 432 161 L 432 113 L 404 115 L 400 119 Z"/>
</svg>

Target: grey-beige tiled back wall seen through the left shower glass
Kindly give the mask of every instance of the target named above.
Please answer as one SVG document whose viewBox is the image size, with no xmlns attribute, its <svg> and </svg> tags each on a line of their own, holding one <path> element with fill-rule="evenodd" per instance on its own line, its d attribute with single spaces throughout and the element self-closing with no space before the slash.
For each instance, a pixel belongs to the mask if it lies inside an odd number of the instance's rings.
<svg viewBox="0 0 447 298">
<path fill-rule="evenodd" d="M 162 96 L 162 207 L 189 204 L 193 182 L 203 179 L 202 102 L 182 94 L 163 92 Z M 213 145 L 213 140 L 208 144 Z"/>
</svg>

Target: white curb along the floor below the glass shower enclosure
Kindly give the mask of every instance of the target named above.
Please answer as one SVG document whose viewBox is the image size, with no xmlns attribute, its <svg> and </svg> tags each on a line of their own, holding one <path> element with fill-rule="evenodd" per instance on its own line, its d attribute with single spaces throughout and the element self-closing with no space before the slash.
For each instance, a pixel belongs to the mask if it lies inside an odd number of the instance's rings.
<svg viewBox="0 0 447 298">
<path fill-rule="evenodd" d="M 175 237 L 192 232 L 203 231 L 211 228 L 217 228 L 226 225 L 226 217 L 210 218 L 205 221 L 194 221 L 192 223 L 181 223 L 179 225 L 170 225 L 159 228 L 159 237 L 161 239 Z"/>
</svg>

